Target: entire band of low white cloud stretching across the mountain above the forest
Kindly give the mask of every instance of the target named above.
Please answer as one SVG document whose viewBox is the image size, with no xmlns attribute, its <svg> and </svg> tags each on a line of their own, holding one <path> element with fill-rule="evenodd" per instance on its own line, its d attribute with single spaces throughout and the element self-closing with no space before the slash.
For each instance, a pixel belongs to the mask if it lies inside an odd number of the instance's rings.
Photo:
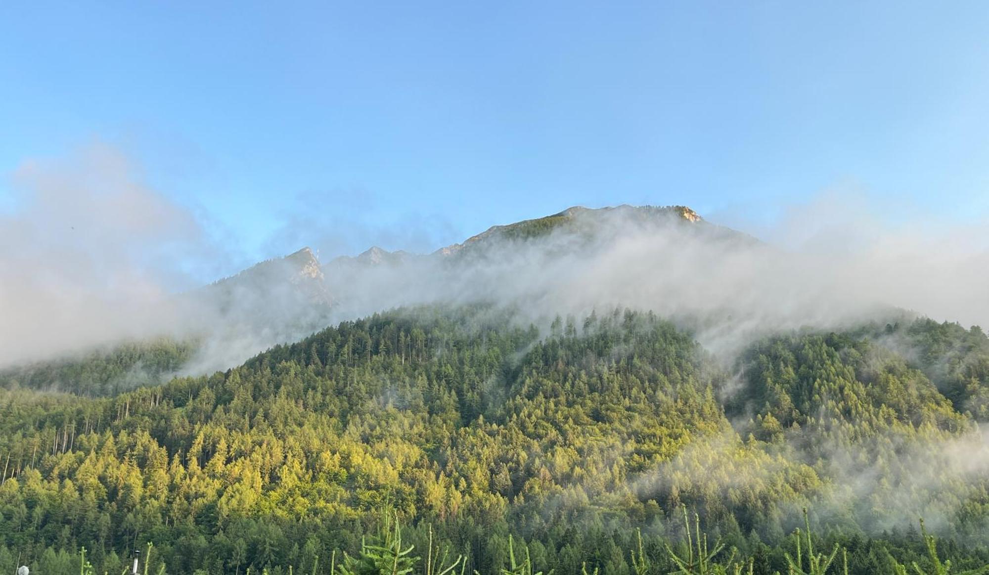
<svg viewBox="0 0 989 575">
<path fill-rule="evenodd" d="M 754 333 L 835 327 L 891 306 L 989 325 L 984 228 L 924 217 L 892 225 L 847 198 L 823 197 L 760 229 L 768 241 L 615 209 L 581 212 L 536 239 L 490 234 L 453 256 L 322 262 L 330 312 L 314 306 L 301 317 L 299 300 L 283 314 L 291 325 L 265 317 L 264 337 L 250 337 L 230 319 L 257 316 L 265 301 L 281 309 L 272 298 L 296 297 L 294 287 L 205 306 L 176 297 L 193 287 L 190 266 L 224 256 L 190 210 L 142 184 L 118 151 L 94 145 L 26 163 L 12 181 L 14 210 L 0 215 L 0 365 L 213 330 L 225 335 L 206 340 L 212 352 L 197 369 L 220 369 L 318 325 L 433 302 L 490 301 L 537 322 L 615 305 L 651 309 L 689 322 L 715 352 Z"/>
</svg>

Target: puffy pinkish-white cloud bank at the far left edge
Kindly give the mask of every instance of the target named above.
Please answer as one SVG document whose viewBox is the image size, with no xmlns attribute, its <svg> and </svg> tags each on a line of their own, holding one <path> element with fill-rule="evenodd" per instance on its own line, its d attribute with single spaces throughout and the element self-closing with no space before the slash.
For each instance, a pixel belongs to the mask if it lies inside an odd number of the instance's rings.
<svg viewBox="0 0 989 575">
<path fill-rule="evenodd" d="M 116 150 L 94 144 L 11 176 L 0 214 L 0 365 L 182 329 L 168 313 L 203 230 L 140 181 Z"/>
</svg>

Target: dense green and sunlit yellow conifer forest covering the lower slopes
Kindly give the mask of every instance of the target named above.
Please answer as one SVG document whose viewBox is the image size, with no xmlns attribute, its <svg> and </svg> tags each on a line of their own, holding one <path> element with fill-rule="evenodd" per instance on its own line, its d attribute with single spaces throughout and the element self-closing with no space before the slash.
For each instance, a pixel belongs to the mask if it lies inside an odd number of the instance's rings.
<svg viewBox="0 0 989 575">
<path fill-rule="evenodd" d="M 0 571 L 117 575 L 135 548 L 170 574 L 989 564 L 976 327 L 902 316 L 726 360 L 647 312 L 423 307 L 158 383 L 188 346 L 0 375 Z"/>
</svg>

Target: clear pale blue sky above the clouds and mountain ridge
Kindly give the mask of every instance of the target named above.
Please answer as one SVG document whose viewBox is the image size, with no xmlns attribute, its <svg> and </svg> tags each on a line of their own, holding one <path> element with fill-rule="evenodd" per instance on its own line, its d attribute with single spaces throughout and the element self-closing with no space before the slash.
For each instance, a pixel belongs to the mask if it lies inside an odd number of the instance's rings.
<svg viewBox="0 0 989 575">
<path fill-rule="evenodd" d="M 0 172 L 108 142 L 258 259 L 846 186 L 984 213 L 989 3 L 813 4 L 4 2 Z"/>
</svg>

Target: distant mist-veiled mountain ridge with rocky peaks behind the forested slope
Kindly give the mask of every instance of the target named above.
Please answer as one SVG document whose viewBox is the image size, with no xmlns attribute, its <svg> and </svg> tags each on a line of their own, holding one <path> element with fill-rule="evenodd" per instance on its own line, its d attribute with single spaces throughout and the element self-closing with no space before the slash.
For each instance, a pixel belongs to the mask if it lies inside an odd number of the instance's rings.
<svg viewBox="0 0 989 575">
<path fill-rule="evenodd" d="M 176 297 L 169 302 L 174 321 L 155 335 L 195 341 L 178 372 L 203 373 L 225 370 L 333 322 L 407 305 L 495 302 L 523 307 L 540 322 L 548 321 L 547 314 L 620 304 L 690 316 L 694 325 L 710 324 L 707 317 L 697 319 L 701 314 L 718 322 L 736 318 L 731 321 L 742 326 L 764 324 L 766 315 L 790 314 L 794 305 L 786 298 L 800 293 L 780 288 L 773 294 L 738 283 L 740 273 L 750 283 L 763 273 L 759 266 L 767 258 L 752 256 L 765 248 L 684 205 L 574 206 L 495 225 L 431 254 L 375 246 L 321 264 L 313 250 L 303 248 Z M 746 317 L 752 309 L 760 316 Z M 127 388 L 158 376 L 144 375 L 126 370 L 123 382 L 101 388 Z M 76 391 L 92 387 L 59 382 L 59 388 Z"/>
</svg>

